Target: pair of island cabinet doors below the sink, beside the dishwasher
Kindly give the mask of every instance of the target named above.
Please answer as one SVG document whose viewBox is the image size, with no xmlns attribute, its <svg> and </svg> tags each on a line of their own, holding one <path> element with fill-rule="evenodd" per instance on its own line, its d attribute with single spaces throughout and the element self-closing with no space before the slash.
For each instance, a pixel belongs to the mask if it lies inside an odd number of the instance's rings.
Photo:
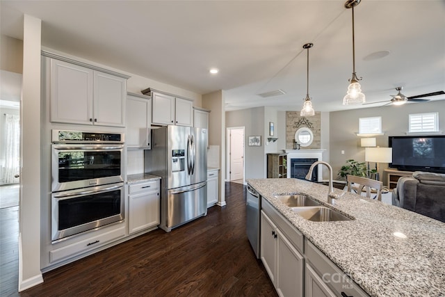
<svg viewBox="0 0 445 297">
<path fill-rule="evenodd" d="M 279 296 L 303 296 L 304 258 L 261 211 L 261 261 Z"/>
</svg>

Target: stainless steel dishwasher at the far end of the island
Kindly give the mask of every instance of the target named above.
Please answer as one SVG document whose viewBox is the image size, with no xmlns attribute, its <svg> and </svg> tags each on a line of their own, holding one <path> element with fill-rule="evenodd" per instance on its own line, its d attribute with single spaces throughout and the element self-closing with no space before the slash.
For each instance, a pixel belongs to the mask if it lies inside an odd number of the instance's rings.
<svg viewBox="0 0 445 297">
<path fill-rule="evenodd" d="M 261 211 L 261 196 L 255 191 L 250 184 L 247 186 L 248 193 L 246 198 L 246 211 L 247 211 L 247 233 L 250 245 L 253 248 L 257 259 L 259 259 L 259 222 Z"/>
</svg>

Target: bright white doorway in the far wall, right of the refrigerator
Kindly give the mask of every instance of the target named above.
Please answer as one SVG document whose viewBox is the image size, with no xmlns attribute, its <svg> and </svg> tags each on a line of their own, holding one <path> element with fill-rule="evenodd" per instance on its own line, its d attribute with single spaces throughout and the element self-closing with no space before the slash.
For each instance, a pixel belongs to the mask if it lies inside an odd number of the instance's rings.
<svg viewBox="0 0 445 297">
<path fill-rule="evenodd" d="M 227 128 L 227 177 L 244 183 L 244 127 Z"/>
</svg>

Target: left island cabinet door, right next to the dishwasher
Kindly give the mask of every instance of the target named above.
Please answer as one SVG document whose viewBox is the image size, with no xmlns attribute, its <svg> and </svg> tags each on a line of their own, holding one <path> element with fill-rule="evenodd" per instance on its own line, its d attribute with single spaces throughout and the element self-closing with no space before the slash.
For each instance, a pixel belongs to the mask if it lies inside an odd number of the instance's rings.
<svg viewBox="0 0 445 297">
<path fill-rule="evenodd" d="M 264 268 L 269 275 L 270 280 L 275 286 L 275 251 L 276 251 L 276 238 L 275 225 L 272 220 L 261 211 L 261 262 L 264 264 Z"/>
</svg>

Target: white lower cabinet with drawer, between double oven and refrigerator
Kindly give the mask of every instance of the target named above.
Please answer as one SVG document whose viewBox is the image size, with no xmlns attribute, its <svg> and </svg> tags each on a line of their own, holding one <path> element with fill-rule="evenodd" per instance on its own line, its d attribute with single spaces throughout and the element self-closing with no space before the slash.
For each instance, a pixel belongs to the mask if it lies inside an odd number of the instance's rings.
<svg viewBox="0 0 445 297">
<path fill-rule="evenodd" d="M 129 234 L 159 225 L 159 179 L 129 185 Z"/>
</svg>

